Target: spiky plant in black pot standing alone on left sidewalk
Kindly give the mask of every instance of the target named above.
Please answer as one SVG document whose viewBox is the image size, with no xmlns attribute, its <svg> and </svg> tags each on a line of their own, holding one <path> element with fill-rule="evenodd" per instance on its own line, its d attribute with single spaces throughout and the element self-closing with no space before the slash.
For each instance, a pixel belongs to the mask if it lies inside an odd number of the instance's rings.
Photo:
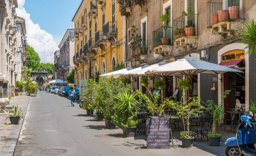
<svg viewBox="0 0 256 156">
<path fill-rule="evenodd" d="M 19 124 L 20 122 L 20 117 L 23 118 L 23 112 L 21 111 L 21 108 L 18 109 L 18 106 L 14 106 L 14 111 L 13 113 L 11 111 L 5 111 L 3 110 L 5 113 L 8 114 L 8 116 L 6 117 L 6 119 L 10 119 L 11 124 Z M 6 121 L 6 119 L 4 120 L 4 122 Z M 5 122 L 6 123 L 6 122 Z"/>
</svg>

